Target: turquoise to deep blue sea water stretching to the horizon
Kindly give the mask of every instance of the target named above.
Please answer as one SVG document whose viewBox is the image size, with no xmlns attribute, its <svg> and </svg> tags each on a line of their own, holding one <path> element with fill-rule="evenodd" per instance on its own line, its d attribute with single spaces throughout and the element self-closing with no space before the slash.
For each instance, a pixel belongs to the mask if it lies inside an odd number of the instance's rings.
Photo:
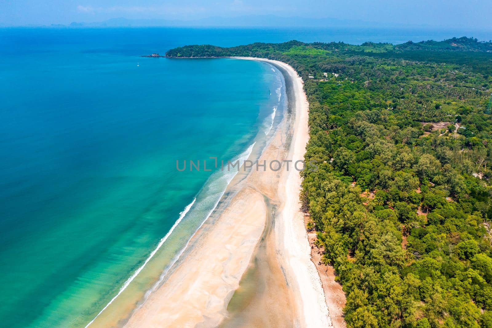
<svg viewBox="0 0 492 328">
<path fill-rule="evenodd" d="M 179 172 L 176 161 L 244 159 L 281 109 L 267 64 L 139 55 L 452 33 L 0 29 L 1 326 L 84 327 L 122 286 L 152 286 L 158 275 L 131 278 L 156 248 L 155 270 L 174 262 L 231 178 Z"/>
</svg>

